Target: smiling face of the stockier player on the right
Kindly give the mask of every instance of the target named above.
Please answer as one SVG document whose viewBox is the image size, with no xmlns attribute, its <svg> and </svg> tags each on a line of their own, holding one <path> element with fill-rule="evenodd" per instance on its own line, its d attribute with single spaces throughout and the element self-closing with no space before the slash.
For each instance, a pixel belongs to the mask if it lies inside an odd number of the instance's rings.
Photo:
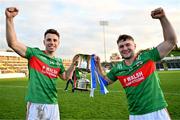
<svg viewBox="0 0 180 120">
<path fill-rule="evenodd" d="M 124 59 L 131 59 L 134 56 L 136 44 L 132 40 L 120 41 L 118 43 L 119 52 Z"/>
</svg>

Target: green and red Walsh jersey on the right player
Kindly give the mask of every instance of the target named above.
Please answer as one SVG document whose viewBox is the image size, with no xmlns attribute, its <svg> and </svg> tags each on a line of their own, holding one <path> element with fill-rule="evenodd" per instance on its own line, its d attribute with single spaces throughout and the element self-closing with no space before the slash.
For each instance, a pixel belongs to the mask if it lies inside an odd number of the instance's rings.
<svg viewBox="0 0 180 120">
<path fill-rule="evenodd" d="M 117 63 L 107 74 L 112 81 L 122 84 L 131 115 L 141 115 L 167 107 L 160 88 L 156 61 L 160 60 L 157 48 L 139 54 L 132 65 Z"/>
</svg>

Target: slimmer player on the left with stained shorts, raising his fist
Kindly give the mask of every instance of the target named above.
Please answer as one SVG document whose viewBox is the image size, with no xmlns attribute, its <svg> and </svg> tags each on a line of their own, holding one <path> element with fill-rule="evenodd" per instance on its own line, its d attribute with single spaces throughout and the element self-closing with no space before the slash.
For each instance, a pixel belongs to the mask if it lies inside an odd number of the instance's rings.
<svg viewBox="0 0 180 120">
<path fill-rule="evenodd" d="M 6 38 L 10 48 L 17 54 L 28 59 L 29 81 L 26 95 L 27 120 L 59 120 L 59 107 L 57 101 L 57 79 L 72 78 L 78 56 L 65 71 L 62 60 L 55 57 L 60 44 L 60 35 L 54 29 L 48 29 L 44 34 L 45 50 L 27 47 L 16 37 L 13 19 L 18 14 L 15 7 L 7 8 Z"/>
</svg>

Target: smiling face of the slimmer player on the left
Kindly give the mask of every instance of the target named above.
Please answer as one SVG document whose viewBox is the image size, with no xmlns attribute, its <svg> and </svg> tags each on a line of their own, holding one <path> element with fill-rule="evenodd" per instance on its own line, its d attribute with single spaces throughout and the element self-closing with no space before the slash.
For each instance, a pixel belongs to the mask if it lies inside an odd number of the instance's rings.
<svg viewBox="0 0 180 120">
<path fill-rule="evenodd" d="M 59 46 L 59 37 L 56 34 L 48 33 L 44 38 L 44 45 L 47 52 L 55 52 Z"/>
</svg>

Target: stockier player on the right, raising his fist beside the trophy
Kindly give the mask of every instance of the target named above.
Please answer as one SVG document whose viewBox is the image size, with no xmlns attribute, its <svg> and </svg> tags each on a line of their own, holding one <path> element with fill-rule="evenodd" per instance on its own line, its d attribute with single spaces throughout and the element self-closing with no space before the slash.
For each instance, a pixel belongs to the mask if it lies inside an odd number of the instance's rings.
<svg viewBox="0 0 180 120">
<path fill-rule="evenodd" d="M 106 76 L 103 75 L 100 58 L 95 56 L 98 71 L 108 84 L 116 80 L 122 84 L 127 96 L 130 120 L 170 120 L 155 62 L 174 48 L 177 39 L 162 8 L 153 10 L 151 16 L 160 20 L 164 35 L 164 41 L 156 48 L 135 53 L 134 39 L 130 35 L 120 35 L 117 45 L 124 60 L 117 63 Z"/>
</svg>

